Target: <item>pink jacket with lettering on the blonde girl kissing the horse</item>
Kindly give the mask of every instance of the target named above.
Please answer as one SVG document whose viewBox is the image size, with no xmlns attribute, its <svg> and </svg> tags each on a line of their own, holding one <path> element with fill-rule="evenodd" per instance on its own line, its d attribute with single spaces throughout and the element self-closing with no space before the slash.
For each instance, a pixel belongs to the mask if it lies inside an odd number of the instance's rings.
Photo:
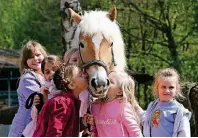
<svg viewBox="0 0 198 138">
<path fill-rule="evenodd" d="M 99 137 L 142 137 L 130 103 L 113 100 L 108 103 L 92 103 L 91 112 L 95 126 L 94 136 Z"/>
</svg>

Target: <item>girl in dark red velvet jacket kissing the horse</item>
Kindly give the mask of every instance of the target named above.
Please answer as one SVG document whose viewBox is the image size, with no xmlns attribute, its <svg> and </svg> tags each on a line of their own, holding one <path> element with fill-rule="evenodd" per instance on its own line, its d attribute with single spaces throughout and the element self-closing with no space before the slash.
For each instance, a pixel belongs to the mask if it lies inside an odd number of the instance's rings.
<svg viewBox="0 0 198 138">
<path fill-rule="evenodd" d="M 62 92 L 48 100 L 38 116 L 35 137 L 77 137 L 79 134 L 79 94 L 88 87 L 87 76 L 75 65 L 58 69 L 53 77 Z"/>
</svg>

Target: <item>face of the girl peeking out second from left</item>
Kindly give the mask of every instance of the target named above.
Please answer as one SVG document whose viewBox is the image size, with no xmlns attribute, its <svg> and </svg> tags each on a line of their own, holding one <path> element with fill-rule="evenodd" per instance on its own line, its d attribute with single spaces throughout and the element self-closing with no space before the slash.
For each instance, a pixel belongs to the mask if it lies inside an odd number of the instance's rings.
<svg viewBox="0 0 198 138">
<path fill-rule="evenodd" d="M 57 70 L 57 66 L 53 62 L 45 63 L 44 67 L 44 76 L 47 81 L 51 81 L 53 78 L 54 72 Z"/>
</svg>

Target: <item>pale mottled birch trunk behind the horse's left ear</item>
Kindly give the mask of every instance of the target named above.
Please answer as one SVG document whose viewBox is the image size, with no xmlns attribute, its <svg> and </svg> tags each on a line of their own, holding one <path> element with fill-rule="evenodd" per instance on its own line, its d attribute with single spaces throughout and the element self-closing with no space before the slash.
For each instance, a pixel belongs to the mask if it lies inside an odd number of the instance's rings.
<svg viewBox="0 0 198 138">
<path fill-rule="evenodd" d="M 78 45 L 77 42 L 73 41 L 76 24 L 71 21 L 68 8 L 72 8 L 76 12 L 81 11 L 79 0 L 60 0 L 62 43 L 64 53 L 71 47 Z"/>
</svg>

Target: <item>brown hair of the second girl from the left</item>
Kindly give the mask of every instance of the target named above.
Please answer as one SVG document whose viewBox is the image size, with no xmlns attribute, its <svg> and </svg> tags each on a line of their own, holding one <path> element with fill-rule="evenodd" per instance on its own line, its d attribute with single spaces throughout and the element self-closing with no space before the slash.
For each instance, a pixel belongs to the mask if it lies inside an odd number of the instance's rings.
<svg viewBox="0 0 198 138">
<path fill-rule="evenodd" d="M 53 63 L 56 67 L 59 67 L 61 60 L 58 56 L 55 55 L 49 55 L 46 58 L 43 59 L 41 63 L 41 71 L 44 74 L 45 71 L 45 64 L 46 63 Z"/>
</svg>

